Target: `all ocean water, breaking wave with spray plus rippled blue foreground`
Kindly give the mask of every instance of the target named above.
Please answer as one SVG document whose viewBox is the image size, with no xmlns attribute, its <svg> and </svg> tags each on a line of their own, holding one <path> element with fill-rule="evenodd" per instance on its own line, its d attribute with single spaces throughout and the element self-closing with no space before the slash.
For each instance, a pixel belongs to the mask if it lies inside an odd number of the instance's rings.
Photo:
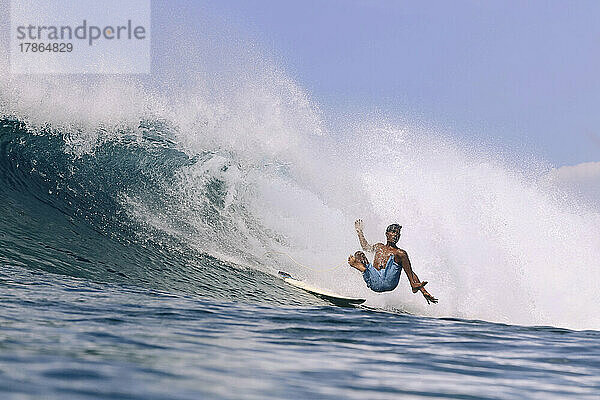
<svg viewBox="0 0 600 400">
<path fill-rule="evenodd" d="M 3 52 L 0 398 L 600 396 L 597 199 L 200 36 L 156 32 L 150 77 L 11 76 Z M 366 288 L 357 218 L 403 225 L 439 304 Z"/>
</svg>

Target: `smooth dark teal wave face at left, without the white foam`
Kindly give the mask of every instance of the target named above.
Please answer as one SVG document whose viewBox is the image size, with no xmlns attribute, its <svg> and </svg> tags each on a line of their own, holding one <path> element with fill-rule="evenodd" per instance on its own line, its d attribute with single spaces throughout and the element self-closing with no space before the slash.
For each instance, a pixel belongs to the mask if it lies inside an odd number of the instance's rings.
<svg viewBox="0 0 600 400">
<path fill-rule="evenodd" d="M 165 207 L 162 188 L 194 162 L 168 141 L 124 136 L 93 155 L 73 156 L 65 153 L 64 139 L 48 131 L 19 121 L 2 120 L 0 126 L 0 262 L 212 297 L 248 294 L 239 290 L 248 271 L 238 267 L 239 279 L 230 276 L 231 264 L 148 227 L 128 208 L 127 199 L 136 197 Z M 218 202 L 209 196 L 205 213 Z"/>
</svg>

